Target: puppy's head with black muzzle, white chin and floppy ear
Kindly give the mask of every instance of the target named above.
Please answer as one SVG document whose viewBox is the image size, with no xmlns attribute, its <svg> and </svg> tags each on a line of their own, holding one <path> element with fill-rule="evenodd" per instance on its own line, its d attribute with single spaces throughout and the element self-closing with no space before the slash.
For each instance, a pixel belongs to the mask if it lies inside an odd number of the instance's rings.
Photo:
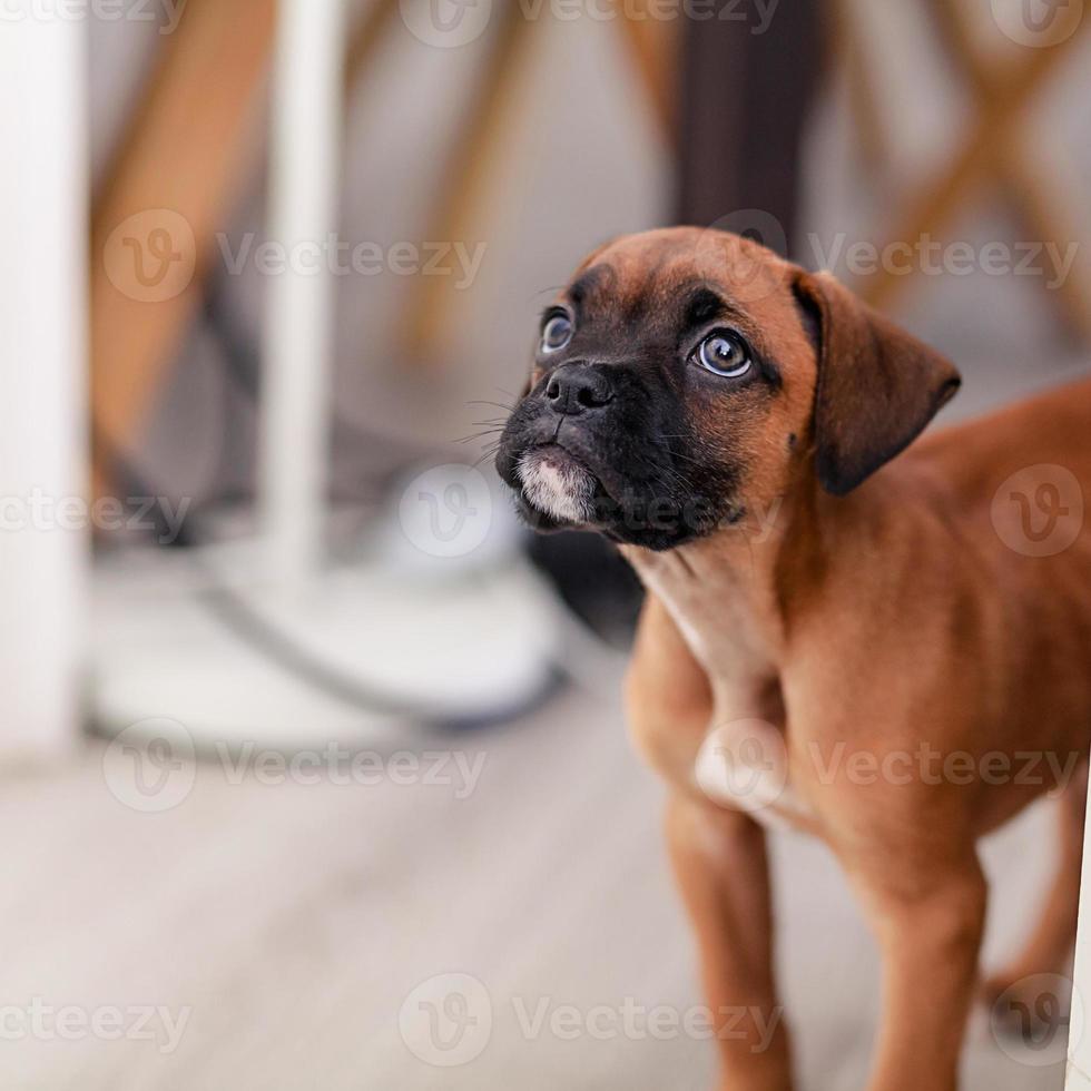
<svg viewBox="0 0 1091 1091">
<path fill-rule="evenodd" d="M 497 468 L 538 529 L 670 549 L 800 474 L 848 492 L 959 382 L 827 274 L 737 235 L 649 232 L 593 253 L 546 311 Z"/>
</svg>

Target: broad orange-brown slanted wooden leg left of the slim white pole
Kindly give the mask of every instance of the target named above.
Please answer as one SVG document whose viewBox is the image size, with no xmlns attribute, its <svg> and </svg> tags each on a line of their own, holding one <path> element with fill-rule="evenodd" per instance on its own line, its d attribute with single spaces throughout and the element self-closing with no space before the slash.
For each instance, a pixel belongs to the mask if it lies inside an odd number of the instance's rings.
<svg viewBox="0 0 1091 1091">
<path fill-rule="evenodd" d="M 134 445 L 200 305 L 215 232 L 256 150 L 275 8 L 275 0 L 189 0 L 95 204 L 91 399 L 99 491 L 110 452 Z M 157 216 L 161 210 L 168 215 Z M 186 263 L 193 278 L 163 298 L 127 291 L 118 271 L 100 259 L 118 229 L 131 236 L 134 263 L 142 249 L 155 269 L 156 254 L 164 254 L 164 261 Z"/>
</svg>

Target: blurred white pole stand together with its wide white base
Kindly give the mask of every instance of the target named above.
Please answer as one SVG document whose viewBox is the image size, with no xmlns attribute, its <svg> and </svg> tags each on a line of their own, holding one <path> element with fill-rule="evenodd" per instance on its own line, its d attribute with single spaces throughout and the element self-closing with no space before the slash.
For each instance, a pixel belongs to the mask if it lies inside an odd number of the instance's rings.
<svg viewBox="0 0 1091 1091">
<path fill-rule="evenodd" d="M 375 10 L 362 31 L 372 42 L 391 9 L 384 0 Z M 337 229 L 346 0 L 277 0 L 275 14 L 268 236 L 292 252 Z M 224 35 L 222 26 L 217 41 Z M 362 63 L 366 52 L 350 56 Z M 223 146 L 210 155 L 214 180 L 233 173 L 230 158 Z M 149 181 L 169 188 L 156 171 Z M 203 206 L 198 248 L 222 223 L 224 191 Z M 106 263 L 102 252 L 96 261 Z M 193 273 L 199 279 L 197 263 Z M 100 731 L 157 740 L 159 749 L 173 747 L 164 719 L 198 749 L 405 745 L 421 723 L 491 721 L 548 689 L 557 610 L 504 534 L 499 498 L 488 510 L 491 497 L 475 498 L 469 514 L 459 510 L 460 520 L 491 513 L 464 558 L 421 556 L 427 550 L 417 551 L 404 529 L 406 505 L 444 499 L 424 485 L 403 498 L 401 533 L 384 540 L 390 515 L 372 520 L 370 562 L 338 566 L 327 556 L 334 291 L 333 271 L 321 263 L 289 263 L 269 278 L 258 534 L 217 543 L 193 531 L 190 515 L 195 548 L 122 553 L 97 571 L 92 716 Z M 156 303 L 135 294 L 164 335 Z"/>
</svg>

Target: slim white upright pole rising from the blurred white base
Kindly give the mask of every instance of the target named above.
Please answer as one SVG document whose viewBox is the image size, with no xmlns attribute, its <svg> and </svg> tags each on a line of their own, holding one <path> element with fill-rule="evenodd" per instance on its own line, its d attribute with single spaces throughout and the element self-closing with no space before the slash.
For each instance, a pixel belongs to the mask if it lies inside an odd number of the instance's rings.
<svg viewBox="0 0 1091 1091">
<path fill-rule="evenodd" d="M 279 0 L 269 240 L 289 268 L 267 285 L 258 490 L 271 574 L 289 586 L 322 560 L 344 29 L 344 0 Z"/>
</svg>

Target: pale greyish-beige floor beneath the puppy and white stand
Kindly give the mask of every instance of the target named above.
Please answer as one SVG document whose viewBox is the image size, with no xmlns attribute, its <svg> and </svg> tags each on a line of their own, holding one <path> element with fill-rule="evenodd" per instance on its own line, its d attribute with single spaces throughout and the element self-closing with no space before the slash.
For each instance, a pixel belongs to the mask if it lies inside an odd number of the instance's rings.
<svg viewBox="0 0 1091 1091">
<path fill-rule="evenodd" d="M 569 690 L 524 723 L 456 741 L 484 756 L 462 799 L 452 785 L 389 779 L 232 784 L 206 763 L 183 803 L 144 814 L 111 794 L 104 758 L 117 754 L 101 743 L 49 776 L 8 775 L 0 1088 L 710 1087 L 707 1041 L 669 1026 L 657 1039 L 637 1016 L 626 1034 L 617 1014 L 628 1003 L 680 1019 L 700 997 L 665 867 L 659 788 L 630 756 L 615 684 L 603 680 L 606 698 Z M 1038 896 L 1044 818 L 1032 813 L 987 846 L 993 957 Z M 878 996 L 872 944 L 820 846 L 777 835 L 775 867 L 800 1085 L 857 1091 Z M 471 993 L 465 1011 L 484 1022 L 456 1050 L 421 1060 L 410 1045 L 427 1054 L 427 1043 L 412 1018 L 426 1008 L 421 994 L 405 1005 L 407 1045 L 403 1001 L 451 973 L 481 983 L 491 1033 Z M 88 1018 L 150 1005 L 169 1019 L 151 1020 L 153 1041 L 20 1036 L 18 1012 L 36 997 Z M 564 1005 L 578 1013 L 574 1036 Z M 167 1031 L 186 1010 L 171 1050 Z M 588 1019 L 598 1032 L 580 1031 Z M 479 1049 L 460 1065 L 429 1063 Z M 1063 1067 L 1043 1059 L 1009 1056 L 979 1014 L 967 1087 L 1060 1089 Z"/>
</svg>

